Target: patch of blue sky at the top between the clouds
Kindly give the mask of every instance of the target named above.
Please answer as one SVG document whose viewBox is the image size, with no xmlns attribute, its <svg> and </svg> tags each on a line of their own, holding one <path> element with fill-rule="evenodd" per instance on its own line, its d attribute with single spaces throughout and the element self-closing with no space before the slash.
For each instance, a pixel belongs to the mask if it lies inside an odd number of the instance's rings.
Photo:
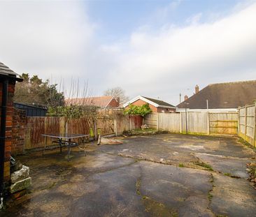
<svg viewBox="0 0 256 217">
<path fill-rule="evenodd" d="M 227 15 L 238 0 L 183 1 L 86 1 L 85 7 L 92 21 L 100 24 L 100 39 L 120 40 L 143 25 L 159 29 L 164 24 L 185 25 L 188 17 L 203 13 L 200 22 L 211 15 Z M 164 12 L 165 11 L 165 12 Z"/>
</svg>

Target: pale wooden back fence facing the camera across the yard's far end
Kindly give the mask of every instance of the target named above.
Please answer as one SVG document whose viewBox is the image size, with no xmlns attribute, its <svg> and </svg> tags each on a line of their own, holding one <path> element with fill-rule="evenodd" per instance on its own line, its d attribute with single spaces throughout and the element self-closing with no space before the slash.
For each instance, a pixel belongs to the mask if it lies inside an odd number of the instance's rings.
<svg viewBox="0 0 256 217">
<path fill-rule="evenodd" d="M 186 120 L 187 119 L 187 120 Z M 172 133 L 236 135 L 238 114 L 185 112 L 167 114 L 152 113 L 145 117 L 145 124 L 150 128 L 169 130 Z"/>
</svg>

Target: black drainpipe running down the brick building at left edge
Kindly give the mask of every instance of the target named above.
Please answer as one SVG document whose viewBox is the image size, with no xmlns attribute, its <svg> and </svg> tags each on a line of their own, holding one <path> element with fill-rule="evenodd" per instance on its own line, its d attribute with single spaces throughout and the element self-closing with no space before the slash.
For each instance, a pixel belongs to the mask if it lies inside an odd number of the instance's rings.
<svg viewBox="0 0 256 217">
<path fill-rule="evenodd" d="M 4 169 L 4 151 L 6 142 L 6 106 L 8 98 L 8 79 L 2 83 L 2 105 L 1 105 L 1 126 L 0 126 L 0 207 L 3 204 L 3 169 Z"/>
</svg>

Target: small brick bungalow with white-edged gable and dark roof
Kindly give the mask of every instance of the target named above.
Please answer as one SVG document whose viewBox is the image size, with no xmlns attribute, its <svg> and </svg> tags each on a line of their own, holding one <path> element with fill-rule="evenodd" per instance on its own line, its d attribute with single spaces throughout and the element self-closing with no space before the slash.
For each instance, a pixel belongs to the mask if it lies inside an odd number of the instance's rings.
<svg viewBox="0 0 256 217">
<path fill-rule="evenodd" d="M 129 107 L 129 105 L 144 105 L 148 103 L 152 112 L 170 113 L 176 112 L 176 107 L 162 100 L 154 98 L 148 98 L 145 96 L 137 96 L 123 105 L 123 107 Z"/>
</svg>

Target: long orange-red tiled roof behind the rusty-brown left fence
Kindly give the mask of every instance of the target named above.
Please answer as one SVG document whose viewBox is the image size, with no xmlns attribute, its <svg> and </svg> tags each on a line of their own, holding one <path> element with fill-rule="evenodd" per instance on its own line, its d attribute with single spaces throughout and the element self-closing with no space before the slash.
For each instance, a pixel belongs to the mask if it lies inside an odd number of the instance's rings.
<svg viewBox="0 0 256 217">
<path fill-rule="evenodd" d="M 112 100 L 116 100 L 113 96 L 99 96 L 99 97 L 87 97 L 87 98 L 68 98 L 65 99 L 66 105 L 90 105 L 97 107 L 108 107 L 108 104 Z"/>
</svg>

